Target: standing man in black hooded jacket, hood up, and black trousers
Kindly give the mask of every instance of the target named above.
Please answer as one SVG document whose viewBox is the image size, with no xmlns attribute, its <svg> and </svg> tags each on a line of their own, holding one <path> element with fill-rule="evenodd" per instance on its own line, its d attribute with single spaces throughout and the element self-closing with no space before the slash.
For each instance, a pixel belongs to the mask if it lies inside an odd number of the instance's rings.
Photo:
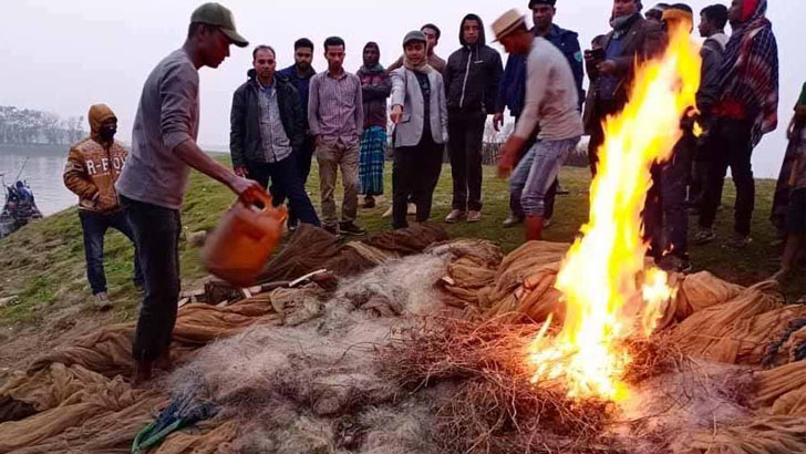
<svg viewBox="0 0 806 454">
<path fill-rule="evenodd" d="M 443 74 L 453 176 L 453 209 L 445 218 L 448 224 L 465 215 L 468 223 L 482 220 L 482 138 L 487 115 L 495 113 L 504 72 L 500 54 L 485 44 L 478 16 L 467 14 L 462 20 L 459 42 L 462 49 L 447 59 Z"/>
</svg>

